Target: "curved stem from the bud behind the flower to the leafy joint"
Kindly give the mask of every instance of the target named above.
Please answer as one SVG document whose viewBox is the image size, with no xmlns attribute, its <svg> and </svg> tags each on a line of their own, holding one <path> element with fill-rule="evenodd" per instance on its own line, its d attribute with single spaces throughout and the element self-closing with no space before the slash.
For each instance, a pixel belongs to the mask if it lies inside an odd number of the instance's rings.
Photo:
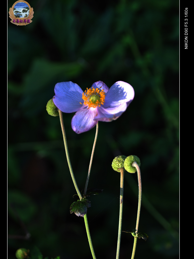
<svg viewBox="0 0 194 259">
<path fill-rule="evenodd" d="M 61 129 L 62 129 L 62 133 L 63 133 L 63 141 L 64 141 L 64 145 L 65 145 L 65 153 L 66 153 L 66 157 L 67 157 L 67 162 L 68 162 L 71 178 L 73 180 L 73 184 L 74 184 L 74 186 L 76 188 L 76 191 L 77 191 L 77 194 L 79 196 L 79 199 L 81 200 L 82 199 L 81 192 L 79 191 L 79 188 L 77 186 L 76 179 L 75 179 L 75 176 L 73 174 L 73 169 L 72 169 L 71 162 L 70 162 L 69 151 L 68 151 L 68 146 L 67 146 L 67 139 L 66 139 L 66 134 L 65 134 L 65 127 L 64 127 L 64 123 L 63 123 L 63 113 L 59 109 L 58 109 L 58 112 L 59 112 L 59 118 L 60 118 L 60 123 L 61 123 Z"/>
</svg>

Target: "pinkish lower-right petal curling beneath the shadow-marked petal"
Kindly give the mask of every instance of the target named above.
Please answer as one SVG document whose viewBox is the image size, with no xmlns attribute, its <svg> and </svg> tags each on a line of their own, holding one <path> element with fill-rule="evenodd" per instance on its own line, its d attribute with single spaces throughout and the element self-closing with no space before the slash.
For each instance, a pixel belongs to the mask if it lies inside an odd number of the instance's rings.
<svg viewBox="0 0 194 259">
<path fill-rule="evenodd" d="M 115 107 L 104 108 L 103 106 L 98 107 L 98 114 L 94 120 L 99 121 L 112 121 L 116 120 L 121 114 L 127 109 L 127 104 L 122 103 Z"/>
</svg>

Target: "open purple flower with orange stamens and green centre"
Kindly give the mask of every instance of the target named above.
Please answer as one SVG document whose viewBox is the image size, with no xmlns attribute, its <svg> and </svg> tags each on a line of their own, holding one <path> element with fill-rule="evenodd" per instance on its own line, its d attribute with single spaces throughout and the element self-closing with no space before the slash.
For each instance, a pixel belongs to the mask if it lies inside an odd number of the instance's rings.
<svg viewBox="0 0 194 259">
<path fill-rule="evenodd" d="M 61 82 L 55 85 L 53 102 L 62 112 L 76 112 L 71 126 L 76 133 L 91 130 L 98 121 L 116 120 L 132 102 L 134 90 L 123 81 L 114 83 L 109 89 L 98 81 L 85 92 L 79 85 Z"/>
</svg>

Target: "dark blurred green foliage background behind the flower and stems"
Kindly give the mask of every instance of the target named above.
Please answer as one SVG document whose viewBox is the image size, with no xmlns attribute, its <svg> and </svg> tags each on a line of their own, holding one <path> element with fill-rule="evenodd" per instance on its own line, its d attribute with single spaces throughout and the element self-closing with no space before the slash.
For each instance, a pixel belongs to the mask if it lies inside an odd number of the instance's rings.
<svg viewBox="0 0 194 259">
<path fill-rule="evenodd" d="M 8 1 L 8 11 L 14 2 Z M 91 259 L 84 219 L 70 214 L 78 199 L 59 117 L 46 111 L 58 82 L 83 90 L 96 81 L 130 83 L 135 98 L 120 118 L 99 122 L 88 187 L 88 222 L 97 258 L 115 258 L 120 175 L 115 156 L 141 161 L 143 200 L 135 258 L 179 258 L 179 2 L 30 1 L 32 23 L 8 14 L 8 258 L 38 247 L 43 258 Z M 73 171 L 84 189 L 95 128 L 76 134 L 63 114 Z M 125 172 L 122 229 L 136 225 L 137 174 Z M 25 230 L 26 229 L 26 230 Z M 29 240 L 20 239 L 29 232 Z M 133 237 L 122 233 L 120 259 Z"/>
</svg>

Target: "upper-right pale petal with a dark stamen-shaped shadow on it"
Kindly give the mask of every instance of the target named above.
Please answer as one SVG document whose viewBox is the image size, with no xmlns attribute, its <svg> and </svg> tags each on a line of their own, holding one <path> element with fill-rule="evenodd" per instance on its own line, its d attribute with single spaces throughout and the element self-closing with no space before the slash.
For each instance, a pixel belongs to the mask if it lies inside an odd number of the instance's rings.
<svg viewBox="0 0 194 259">
<path fill-rule="evenodd" d="M 126 103 L 128 106 L 132 102 L 133 98 L 133 87 L 128 83 L 118 81 L 114 83 L 106 93 L 105 103 L 103 107 L 115 107 L 122 103 Z"/>
</svg>

